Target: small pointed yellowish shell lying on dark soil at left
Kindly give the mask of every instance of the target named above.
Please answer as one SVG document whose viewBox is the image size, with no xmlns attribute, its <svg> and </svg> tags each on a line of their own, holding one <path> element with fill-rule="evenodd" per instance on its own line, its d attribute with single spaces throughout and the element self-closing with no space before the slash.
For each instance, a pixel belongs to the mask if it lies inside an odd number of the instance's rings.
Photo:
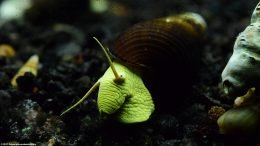
<svg viewBox="0 0 260 146">
<path fill-rule="evenodd" d="M 20 76 L 23 76 L 25 72 L 31 72 L 34 76 L 37 76 L 38 64 L 39 64 L 39 56 L 38 55 L 31 56 L 28 59 L 28 61 L 14 75 L 14 77 L 11 80 L 11 85 L 13 87 L 17 87 L 16 79 Z"/>
</svg>

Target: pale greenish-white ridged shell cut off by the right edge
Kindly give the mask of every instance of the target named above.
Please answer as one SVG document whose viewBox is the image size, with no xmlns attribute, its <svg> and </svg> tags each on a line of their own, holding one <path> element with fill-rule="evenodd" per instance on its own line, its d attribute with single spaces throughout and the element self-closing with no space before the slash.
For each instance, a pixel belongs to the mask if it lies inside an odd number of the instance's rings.
<svg viewBox="0 0 260 146">
<path fill-rule="evenodd" d="M 234 44 L 233 54 L 222 72 L 224 91 L 240 96 L 250 87 L 260 86 L 260 2 L 251 23 L 241 32 Z"/>
</svg>

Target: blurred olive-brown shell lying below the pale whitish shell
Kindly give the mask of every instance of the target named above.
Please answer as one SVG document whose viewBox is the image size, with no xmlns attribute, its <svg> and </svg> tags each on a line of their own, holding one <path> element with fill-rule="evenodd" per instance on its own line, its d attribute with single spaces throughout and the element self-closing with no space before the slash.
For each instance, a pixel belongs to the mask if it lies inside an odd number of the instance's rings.
<svg viewBox="0 0 260 146">
<path fill-rule="evenodd" d="M 255 87 L 234 101 L 234 107 L 217 121 L 219 132 L 222 134 L 253 134 L 260 128 L 259 95 L 255 94 Z"/>
</svg>

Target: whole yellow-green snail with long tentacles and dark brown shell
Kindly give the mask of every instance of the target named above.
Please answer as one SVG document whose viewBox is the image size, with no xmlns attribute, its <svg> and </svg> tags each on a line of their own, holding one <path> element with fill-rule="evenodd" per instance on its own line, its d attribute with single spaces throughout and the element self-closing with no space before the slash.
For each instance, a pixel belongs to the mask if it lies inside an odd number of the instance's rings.
<svg viewBox="0 0 260 146">
<path fill-rule="evenodd" d="M 192 63 L 196 62 L 192 58 L 199 52 L 197 45 L 205 29 L 204 19 L 191 12 L 137 23 L 123 33 L 110 50 L 114 61 L 95 38 L 110 67 L 83 98 L 61 115 L 80 104 L 99 86 L 100 113 L 114 115 L 122 123 L 147 121 L 155 109 L 153 90 L 172 93 L 174 87 L 167 87 L 169 84 L 179 83 L 181 88 L 181 84 L 186 84 L 185 79 L 189 77 L 185 75 L 192 74 Z"/>
</svg>

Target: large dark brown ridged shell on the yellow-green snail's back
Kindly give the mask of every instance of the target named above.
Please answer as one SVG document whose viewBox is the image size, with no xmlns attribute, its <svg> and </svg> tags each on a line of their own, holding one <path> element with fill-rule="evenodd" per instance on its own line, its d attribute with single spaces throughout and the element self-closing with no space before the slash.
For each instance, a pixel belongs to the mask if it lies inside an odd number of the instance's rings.
<svg viewBox="0 0 260 146">
<path fill-rule="evenodd" d="M 185 96 L 191 87 L 205 30 L 204 19 L 196 13 L 159 18 L 129 28 L 110 51 L 141 75 L 155 102 L 169 107 L 161 104 L 162 97 Z"/>
</svg>

